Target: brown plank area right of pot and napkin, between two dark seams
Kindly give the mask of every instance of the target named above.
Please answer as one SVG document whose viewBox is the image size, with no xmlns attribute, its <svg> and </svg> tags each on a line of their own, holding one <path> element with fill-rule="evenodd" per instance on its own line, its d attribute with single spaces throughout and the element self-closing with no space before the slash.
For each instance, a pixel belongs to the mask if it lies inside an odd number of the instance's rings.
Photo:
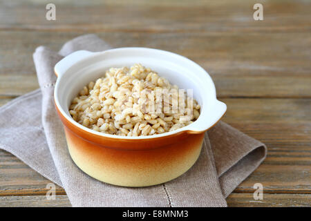
<svg viewBox="0 0 311 221">
<path fill-rule="evenodd" d="M 223 120 L 268 147 L 267 159 L 236 193 L 311 193 L 311 99 L 222 99 Z"/>
</svg>

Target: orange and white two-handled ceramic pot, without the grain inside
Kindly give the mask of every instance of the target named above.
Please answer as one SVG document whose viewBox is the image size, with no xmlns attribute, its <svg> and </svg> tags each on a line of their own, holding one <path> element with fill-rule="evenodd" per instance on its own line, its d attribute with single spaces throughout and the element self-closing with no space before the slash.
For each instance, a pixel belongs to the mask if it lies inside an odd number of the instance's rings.
<svg viewBox="0 0 311 221">
<path fill-rule="evenodd" d="M 70 117 L 68 106 L 79 90 L 103 77 L 111 67 L 140 63 L 160 76 L 192 89 L 201 106 L 196 122 L 158 135 L 124 137 L 93 131 Z M 70 156 L 82 171 L 119 186 L 151 186 L 172 180 L 196 162 L 205 131 L 224 115 L 211 77 L 198 64 L 171 52 L 151 48 L 79 50 L 55 66 L 55 104 L 65 128 Z"/>
</svg>

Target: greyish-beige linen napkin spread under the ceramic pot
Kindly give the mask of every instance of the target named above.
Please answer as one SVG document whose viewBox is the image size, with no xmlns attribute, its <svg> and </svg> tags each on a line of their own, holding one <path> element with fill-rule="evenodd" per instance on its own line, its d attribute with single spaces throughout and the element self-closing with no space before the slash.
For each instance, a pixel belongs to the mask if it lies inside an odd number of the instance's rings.
<svg viewBox="0 0 311 221">
<path fill-rule="evenodd" d="M 113 186 L 89 177 L 75 166 L 55 111 L 54 66 L 75 50 L 108 48 L 95 35 L 68 41 L 58 53 L 44 46 L 37 48 L 33 59 L 40 89 L 0 108 L 0 148 L 62 186 L 73 206 L 227 206 L 225 198 L 261 164 L 267 148 L 224 122 L 206 133 L 196 164 L 165 184 Z"/>
</svg>

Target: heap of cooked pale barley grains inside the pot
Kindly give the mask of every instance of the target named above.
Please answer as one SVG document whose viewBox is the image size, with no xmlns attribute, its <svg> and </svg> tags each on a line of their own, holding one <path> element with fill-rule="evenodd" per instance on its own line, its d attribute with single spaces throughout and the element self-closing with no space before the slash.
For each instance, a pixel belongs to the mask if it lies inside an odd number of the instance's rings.
<svg viewBox="0 0 311 221">
<path fill-rule="evenodd" d="M 200 115 L 200 105 L 185 90 L 135 64 L 110 68 L 105 77 L 84 86 L 70 104 L 69 113 L 94 131 L 145 136 L 191 124 Z"/>
</svg>

